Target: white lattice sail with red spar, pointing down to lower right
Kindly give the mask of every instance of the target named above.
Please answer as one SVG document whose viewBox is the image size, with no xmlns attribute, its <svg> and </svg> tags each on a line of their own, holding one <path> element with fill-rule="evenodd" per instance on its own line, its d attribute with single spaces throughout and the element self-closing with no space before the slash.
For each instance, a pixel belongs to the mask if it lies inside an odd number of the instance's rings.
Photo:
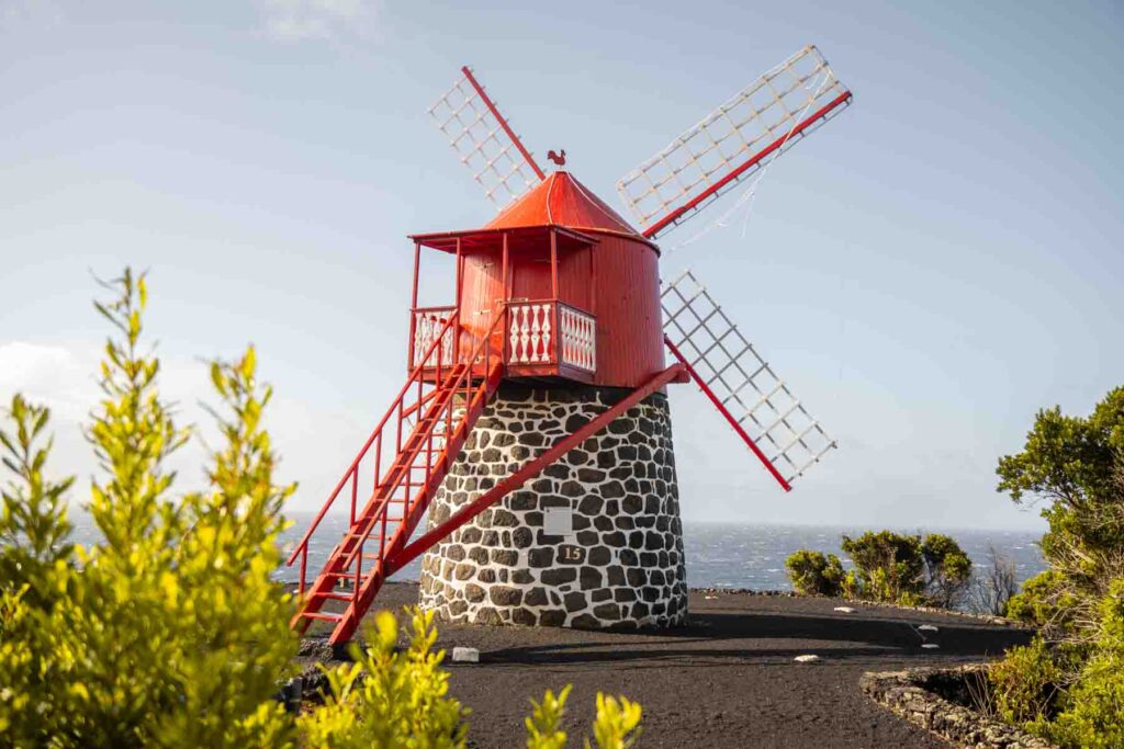
<svg viewBox="0 0 1124 749">
<path fill-rule="evenodd" d="M 664 282 L 660 296 L 668 339 L 785 482 L 836 447 L 694 273 Z"/>
</svg>

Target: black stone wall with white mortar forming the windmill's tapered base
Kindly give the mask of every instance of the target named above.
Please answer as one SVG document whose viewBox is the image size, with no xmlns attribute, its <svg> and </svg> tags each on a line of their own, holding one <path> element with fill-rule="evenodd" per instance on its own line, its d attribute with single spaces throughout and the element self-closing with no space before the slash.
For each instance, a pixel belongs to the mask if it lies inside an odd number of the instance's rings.
<svg viewBox="0 0 1124 749">
<path fill-rule="evenodd" d="M 437 491 L 429 528 L 626 392 L 504 383 Z M 544 530 L 558 508 L 563 518 L 572 510 L 570 536 Z M 629 409 L 430 549 L 420 605 L 444 621 L 481 624 L 682 623 L 687 579 L 667 396 Z"/>
</svg>

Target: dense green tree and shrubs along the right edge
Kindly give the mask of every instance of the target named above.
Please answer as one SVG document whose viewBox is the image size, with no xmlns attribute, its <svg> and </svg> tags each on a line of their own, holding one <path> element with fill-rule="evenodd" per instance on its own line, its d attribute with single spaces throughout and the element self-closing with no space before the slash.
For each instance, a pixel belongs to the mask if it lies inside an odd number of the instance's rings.
<svg viewBox="0 0 1124 749">
<path fill-rule="evenodd" d="M 992 668 L 1005 716 L 1064 746 L 1124 746 L 1124 387 L 1086 418 L 1040 411 L 1022 453 L 999 459 L 999 491 L 1045 501 L 1049 569 L 1008 602 L 1037 624 L 1033 651 L 1012 650 Z M 1048 681 L 1042 694 L 1014 685 Z"/>
</svg>

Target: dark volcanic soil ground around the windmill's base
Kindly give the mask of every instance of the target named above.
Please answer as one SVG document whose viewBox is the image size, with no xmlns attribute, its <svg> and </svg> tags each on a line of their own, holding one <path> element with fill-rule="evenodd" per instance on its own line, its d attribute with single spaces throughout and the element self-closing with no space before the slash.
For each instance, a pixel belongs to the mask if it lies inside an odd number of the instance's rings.
<svg viewBox="0 0 1124 749">
<path fill-rule="evenodd" d="M 382 608 L 417 602 L 417 585 L 388 584 Z M 658 632 L 588 632 L 438 624 L 438 647 L 480 650 L 446 666 L 472 710 L 475 747 L 520 747 L 529 697 L 573 684 L 566 731 L 581 746 L 598 691 L 644 709 L 641 747 L 948 747 L 859 691 L 868 670 L 955 665 L 1030 640 L 1023 630 L 830 599 L 691 593 L 690 624 Z M 937 632 L 918 632 L 931 623 Z M 940 649 L 921 648 L 925 636 Z M 815 654 L 815 664 L 792 658 Z"/>
</svg>

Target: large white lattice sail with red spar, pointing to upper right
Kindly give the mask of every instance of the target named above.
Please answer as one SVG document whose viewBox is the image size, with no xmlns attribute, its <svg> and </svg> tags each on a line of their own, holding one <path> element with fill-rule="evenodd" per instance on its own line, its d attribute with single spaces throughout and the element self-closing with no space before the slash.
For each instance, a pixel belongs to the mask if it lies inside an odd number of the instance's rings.
<svg viewBox="0 0 1124 749">
<path fill-rule="evenodd" d="M 617 182 L 633 217 L 655 236 L 761 170 L 850 103 L 851 92 L 809 45 Z"/>
</svg>

